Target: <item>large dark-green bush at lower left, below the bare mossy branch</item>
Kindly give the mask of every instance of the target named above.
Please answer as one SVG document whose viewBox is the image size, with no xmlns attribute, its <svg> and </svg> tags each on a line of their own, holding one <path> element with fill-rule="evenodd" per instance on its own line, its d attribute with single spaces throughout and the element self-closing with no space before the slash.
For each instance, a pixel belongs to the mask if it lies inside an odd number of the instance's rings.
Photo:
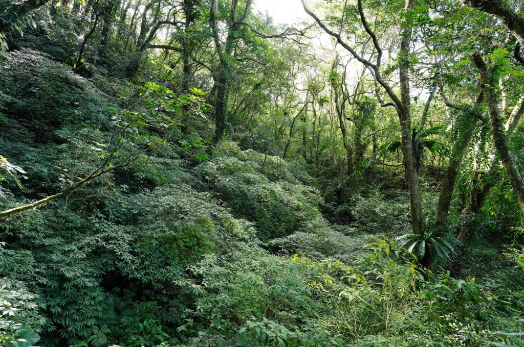
<svg viewBox="0 0 524 347">
<path fill-rule="evenodd" d="M 183 266 L 204 253 L 231 250 L 236 240 L 252 233 L 249 223 L 237 221 L 209 194 L 189 187 L 113 194 L 100 205 L 106 209 L 91 214 L 71 202 L 65 211 L 55 205 L 4 225 L 3 238 L 17 240 L 17 247 L 3 250 L 0 274 L 24 281 L 38 294 L 35 302 L 46 307 L 46 319 L 32 324 L 42 332 L 43 345 L 104 339 L 140 345 L 145 340 L 126 331 L 145 321 L 149 330 L 140 329 L 157 336 L 149 343 L 161 342 L 172 329 L 166 326 L 176 325 L 182 311 L 177 305 L 169 308 L 178 296 L 166 290 L 185 276 Z M 157 304 L 150 306 L 149 316 L 136 316 L 130 302 Z M 169 309 L 172 316 L 165 314 Z M 138 321 L 131 318 L 135 316 Z M 146 330 L 139 330 L 144 338 Z"/>
</svg>

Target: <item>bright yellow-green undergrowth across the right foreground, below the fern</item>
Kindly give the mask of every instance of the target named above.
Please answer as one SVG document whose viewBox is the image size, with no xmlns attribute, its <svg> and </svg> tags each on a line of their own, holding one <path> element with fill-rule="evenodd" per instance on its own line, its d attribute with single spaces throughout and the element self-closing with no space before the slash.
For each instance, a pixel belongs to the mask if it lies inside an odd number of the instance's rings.
<svg viewBox="0 0 524 347">
<path fill-rule="evenodd" d="M 386 241 L 355 267 L 245 247 L 208 256 L 177 281 L 192 296 L 179 331 L 192 345 L 462 345 L 518 343 L 504 299 L 449 272 L 424 279 Z M 519 304 L 518 310 L 522 309 Z"/>
</svg>

